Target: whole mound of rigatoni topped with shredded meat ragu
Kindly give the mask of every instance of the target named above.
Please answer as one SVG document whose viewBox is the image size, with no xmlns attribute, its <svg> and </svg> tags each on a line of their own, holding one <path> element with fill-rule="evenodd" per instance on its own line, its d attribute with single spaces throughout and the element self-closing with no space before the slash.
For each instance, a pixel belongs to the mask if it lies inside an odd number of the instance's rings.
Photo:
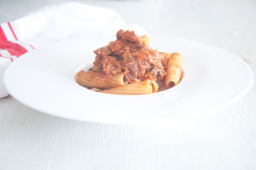
<svg viewBox="0 0 256 170">
<path fill-rule="evenodd" d="M 147 35 L 120 29 L 115 42 L 94 50 L 93 67 L 76 74 L 76 82 L 93 91 L 116 95 L 156 93 L 181 81 L 183 56 L 152 49 Z"/>
</svg>

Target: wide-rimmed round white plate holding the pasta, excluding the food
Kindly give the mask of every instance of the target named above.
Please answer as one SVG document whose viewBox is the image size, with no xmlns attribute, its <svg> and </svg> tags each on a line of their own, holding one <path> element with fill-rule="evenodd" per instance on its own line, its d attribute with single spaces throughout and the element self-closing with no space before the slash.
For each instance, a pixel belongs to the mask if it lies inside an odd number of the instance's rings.
<svg viewBox="0 0 256 170">
<path fill-rule="evenodd" d="M 13 98 L 47 114 L 72 120 L 129 123 L 206 113 L 243 97 L 252 70 L 225 50 L 168 36 L 152 36 L 152 47 L 184 56 L 185 74 L 174 88 L 151 95 L 109 95 L 79 86 L 77 68 L 92 66 L 100 40 L 73 40 L 36 49 L 8 67 L 4 84 Z"/>
</svg>

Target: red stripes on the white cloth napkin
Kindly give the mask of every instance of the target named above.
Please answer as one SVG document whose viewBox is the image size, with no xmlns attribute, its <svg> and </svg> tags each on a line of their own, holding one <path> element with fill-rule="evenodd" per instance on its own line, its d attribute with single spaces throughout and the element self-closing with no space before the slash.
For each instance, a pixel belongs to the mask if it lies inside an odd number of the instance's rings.
<svg viewBox="0 0 256 170">
<path fill-rule="evenodd" d="M 15 36 L 12 26 L 10 25 L 10 23 L 8 23 L 8 25 L 10 26 L 13 36 Z M 15 39 L 17 40 L 16 36 L 15 36 Z M 19 43 L 8 41 L 1 25 L 0 25 L 0 49 L 8 50 L 8 52 L 10 52 L 11 55 L 17 56 L 17 57 L 28 52 L 28 50 L 26 50 L 24 47 L 19 45 Z"/>
</svg>

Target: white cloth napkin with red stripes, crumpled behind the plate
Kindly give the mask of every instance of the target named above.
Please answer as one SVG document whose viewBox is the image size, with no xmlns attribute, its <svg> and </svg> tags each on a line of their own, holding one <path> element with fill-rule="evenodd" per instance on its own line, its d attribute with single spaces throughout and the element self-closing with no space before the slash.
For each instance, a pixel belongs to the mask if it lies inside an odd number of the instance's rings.
<svg viewBox="0 0 256 170">
<path fill-rule="evenodd" d="M 0 98 L 8 95 L 3 85 L 4 70 L 29 50 L 74 37 L 115 35 L 127 26 L 114 10 L 80 3 L 47 6 L 21 19 L 0 24 Z"/>
</svg>

